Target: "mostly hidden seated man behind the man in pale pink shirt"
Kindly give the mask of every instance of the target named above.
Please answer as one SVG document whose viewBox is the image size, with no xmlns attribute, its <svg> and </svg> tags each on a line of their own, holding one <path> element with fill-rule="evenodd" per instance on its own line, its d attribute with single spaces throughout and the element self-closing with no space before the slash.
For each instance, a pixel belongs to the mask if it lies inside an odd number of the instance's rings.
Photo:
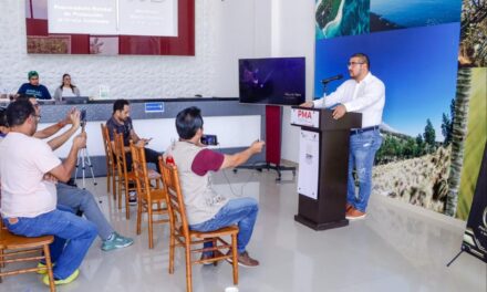
<svg viewBox="0 0 487 292">
<path fill-rule="evenodd" d="M 35 114 L 40 116 L 41 106 L 34 97 L 20 97 L 18 100 L 28 98 L 29 102 L 34 106 Z M 63 145 L 79 128 L 80 128 L 80 112 L 76 109 L 71 111 L 66 118 L 49 126 L 42 131 L 37 131 L 34 137 L 48 138 L 56 134 L 65 125 L 71 124 L 69 128 L 63 134 L 48 142 L 48 145 L 52 150 L 58 149 Z M 96 226 L 99 236 L 102 239 L 102 250 L 111 251 L 114 249 L 121 249 L 129 247 L 134 243 L 132 238 L 123 237 L 118 234 L 110 222 L 106 220 L 105 216 L 100 210 L 93 194 L 85 189 L 79 189 L 76 187 L 66 185 L 64 182 L 58 182 L 56 185 L 58 204 L 70 207 L 74 212 L 82 211 L 84 217 Z"/>
</svg>

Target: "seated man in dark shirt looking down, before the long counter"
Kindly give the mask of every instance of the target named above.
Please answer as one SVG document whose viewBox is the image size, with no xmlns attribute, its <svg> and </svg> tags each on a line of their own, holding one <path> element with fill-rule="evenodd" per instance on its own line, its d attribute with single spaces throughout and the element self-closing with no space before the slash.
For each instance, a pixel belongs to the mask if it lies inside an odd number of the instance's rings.
<svg viewBox="0 0 487 292">
<path fill-rule="evenodd" d="M 106 127 L 108 128 L 110 140 L 112 142 L 113 147 L 114 144 L 114 133 L 123 133 L 124 135 L 124 146 L 125 146 L 125 155 L 127 159 L 127 168 L 132 169 L 132 155 L 129 148 L 131 139 L 137 146 L 145 146 L 148 144 L 151 139 L 139 138 L 134 131 L 134 126 L 132 124 L 131 118 L 131 106 L 128 101 L 126 100 L 116 100 L 113 104 L 113 114 L 112 117 L 106 121 Z M 158 167 L 158 157 L 160 153 L 155 152 L 149 148 L 145 148 L 145 160 L 147 163 L 155 164 Z M 159 171 L 160 173 L 160 171 Z"/>
</svg>

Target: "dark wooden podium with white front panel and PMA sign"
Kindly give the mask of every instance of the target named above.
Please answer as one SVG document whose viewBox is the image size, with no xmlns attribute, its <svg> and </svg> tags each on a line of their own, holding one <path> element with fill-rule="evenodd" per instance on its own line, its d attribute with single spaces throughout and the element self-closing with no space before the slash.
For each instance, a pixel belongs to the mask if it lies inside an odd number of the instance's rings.
<svg viewBox="0 0 487 292">
<path fill-rule="evenodd" d="M 294 220 L 314 230 L 349 225 L 345 219 L 350 129 L 362 114 L 334 119 L 325 108 L 291 108 L 291 125 L 300 126 L 298 215 Z"/>
</svg>

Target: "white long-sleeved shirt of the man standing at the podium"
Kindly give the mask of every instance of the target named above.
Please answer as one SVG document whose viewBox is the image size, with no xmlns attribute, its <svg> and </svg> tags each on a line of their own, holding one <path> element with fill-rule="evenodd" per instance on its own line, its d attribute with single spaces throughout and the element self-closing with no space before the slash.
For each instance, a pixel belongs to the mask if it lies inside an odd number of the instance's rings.
<svg viewBox="0 0 487 292">
<path fill-rule="evenodd" d="M 384 83 L 369 72 L 360 83 L 348 80 L 330 95 L 313 101 L 314 107 L 329 107 L 338 103 L 343 104 L 346 112 L 362 113 L 363 128 L 379 126 L 385 104 Z"/>
</svg>

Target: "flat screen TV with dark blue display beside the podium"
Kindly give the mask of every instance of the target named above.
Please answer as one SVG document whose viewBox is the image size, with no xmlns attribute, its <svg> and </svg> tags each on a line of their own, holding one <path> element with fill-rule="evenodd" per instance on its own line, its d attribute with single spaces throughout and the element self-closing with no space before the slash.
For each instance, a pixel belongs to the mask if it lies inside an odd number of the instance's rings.
<svg viewBox="0 0 487 292">
<path fill-rule="evenodd" d="M 240 59 L 240 103 L 299 105 L 305 100 L 304 58 Z"/>
</svg>

